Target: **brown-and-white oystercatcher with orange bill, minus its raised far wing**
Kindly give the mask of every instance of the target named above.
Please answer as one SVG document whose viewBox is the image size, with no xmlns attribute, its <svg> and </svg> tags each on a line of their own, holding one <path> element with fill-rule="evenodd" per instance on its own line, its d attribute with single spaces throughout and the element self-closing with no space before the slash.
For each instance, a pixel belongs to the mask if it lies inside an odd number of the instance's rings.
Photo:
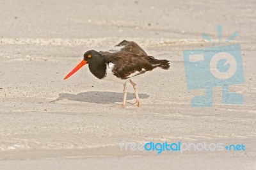
<svg viewBox="0 0 256 170">
<path fill-rule="evenodd" d="M 114 81 L 124 84 L 124 100 L 122 107 L 125 107 L 127 88 L 126 83 L 130 82 L 134 88 L 136 96 L 136 104 L 141 106 L 140 98 L 136 83 L 132 81 L 134 77 L 145 72 L 152 71 L 154 68 L 163 68 L 168 70 L 169 61 L 166 59 L 155 59 L 152 56 L 135 54 L 133 52 L 97 52 L 88 50 L 84 53 L 84 59 L 64 78 L 67 79 L 77 72 L 82 66 L 88 63 L 89 70 L 95 77 L 105 81 Z"/>
</svg>

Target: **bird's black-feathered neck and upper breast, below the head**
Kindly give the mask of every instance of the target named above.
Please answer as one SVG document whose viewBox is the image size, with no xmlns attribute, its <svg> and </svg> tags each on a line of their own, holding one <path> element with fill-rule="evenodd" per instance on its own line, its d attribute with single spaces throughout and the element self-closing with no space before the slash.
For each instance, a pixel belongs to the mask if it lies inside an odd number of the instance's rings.
<svg viewBox="0 0 256 170">
<path fill-rule="evenodd" d="M 90 72 L 92 72 L 95 77 L 102 79 L 106 75 L 106 62 L 104 58 L 99 58 L 97 61 L 92 61 L 89 63 Z"/>
</svg>

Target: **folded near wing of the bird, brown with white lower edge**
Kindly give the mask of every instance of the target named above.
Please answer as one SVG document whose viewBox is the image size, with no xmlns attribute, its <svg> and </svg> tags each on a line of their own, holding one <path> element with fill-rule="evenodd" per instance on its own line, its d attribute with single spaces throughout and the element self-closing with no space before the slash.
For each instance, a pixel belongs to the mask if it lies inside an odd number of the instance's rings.
<svg viewBox="0 0 256 170">
<path fill-rule="evenodd" d="M 132 52 L 114 52 L 104 56 L 106 63 L 113 63 L 112 70 L 116 77 L 128 79 L 155 68 L 149 61 L 148 56 L 141 56 Z M 152 58 L 152 57 L 151 57 Z"/>
</svg>

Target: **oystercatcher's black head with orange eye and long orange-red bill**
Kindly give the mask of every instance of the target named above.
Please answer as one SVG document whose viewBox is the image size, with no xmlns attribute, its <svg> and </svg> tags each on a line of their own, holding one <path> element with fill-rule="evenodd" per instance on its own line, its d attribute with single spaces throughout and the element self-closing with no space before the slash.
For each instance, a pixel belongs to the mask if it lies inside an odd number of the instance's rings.
<svg viewBox="0 0 256 170">
<path fill-rule="evenodd" d="M 90 63 L 94 61 L 97 62 L 100 59 L 102 59 L 102 55 L 99 52 L 95 50 L 88 50 L 84 53 L 84 59 L 70 73 L 68 73 L 64 80 L 70 77 L 72 74 L 76 73 L 77 70 L 79 70 L 82 66 L 86 65 L 87 63 L 88 65 L 90 65 Z"/>
</svg>

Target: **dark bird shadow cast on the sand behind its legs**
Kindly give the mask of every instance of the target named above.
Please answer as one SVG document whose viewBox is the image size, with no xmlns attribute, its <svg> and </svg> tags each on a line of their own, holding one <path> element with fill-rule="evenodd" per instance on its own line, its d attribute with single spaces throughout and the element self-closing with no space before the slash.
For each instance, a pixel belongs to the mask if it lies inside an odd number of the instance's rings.
<svg viewBox="0 0 256 170">
<path fill-rule="evenodd" d="M 79 102 L 89 102 L 97 104 L 112 104 L 114 102 L 122 102 L 124 93 L 108 92 L 108 91 L 88 91 L 83 93 L 71 94 L 71 93 L 59 93 L 59 97 L 52 102 L 58 100 L 68 99 Z M 139 94 L 140 98 L 148 98 L 149 95 L 145 93 Z M 135 98 L 134 93 L 127 93 L 127 100 Z"/>
</svg>

